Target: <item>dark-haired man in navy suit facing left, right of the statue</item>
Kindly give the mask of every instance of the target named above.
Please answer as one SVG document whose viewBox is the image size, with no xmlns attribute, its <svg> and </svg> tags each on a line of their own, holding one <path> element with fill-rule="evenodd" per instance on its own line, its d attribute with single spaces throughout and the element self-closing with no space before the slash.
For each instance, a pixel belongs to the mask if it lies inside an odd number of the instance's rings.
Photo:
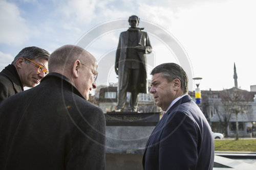
<svg viewBox="0 0 256 170">
<path fill-rule="evenodd" d="M 143 168 L 211 170 L 214 139 L 204 114 L 187 94 L 186 72 L 178 64 L 164 63 L 151 75 L 150 92 L 165 113 L 148 138 Z"/>
</svg>

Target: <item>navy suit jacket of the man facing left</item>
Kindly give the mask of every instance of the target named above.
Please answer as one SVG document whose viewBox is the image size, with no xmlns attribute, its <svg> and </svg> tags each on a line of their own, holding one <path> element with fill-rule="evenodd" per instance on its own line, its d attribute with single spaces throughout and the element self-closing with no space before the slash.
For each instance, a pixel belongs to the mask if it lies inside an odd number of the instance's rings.
<svg viewBox="0 0 256 170">
<path fill-rule="evenodd" d="M 214 140 L 210 126 L 189 95 L 161 118 L 147 141 L 143 168 L 212 169 Z"/>
</svg>

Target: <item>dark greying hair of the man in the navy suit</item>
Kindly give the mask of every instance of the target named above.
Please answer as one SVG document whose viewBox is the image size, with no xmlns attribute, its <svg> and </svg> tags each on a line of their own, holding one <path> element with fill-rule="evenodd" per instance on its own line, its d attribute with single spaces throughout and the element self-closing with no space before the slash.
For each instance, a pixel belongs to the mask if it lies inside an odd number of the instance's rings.
<svg viewBox="0 0 256 170">
<path fill-rule="evenodd" d="M 175 63 L 163 63 L 156 66 L 152 71 L 151 75 L 155 75 L 162 72 L 162 76 L 166 78 L 168 82 L 173 81 L 174 79 L 179 79 L 181 82 L 181 89 L 184 93 L 188 92 L 188 78 L 186 72 L 181 66 Z"/>
</svg>

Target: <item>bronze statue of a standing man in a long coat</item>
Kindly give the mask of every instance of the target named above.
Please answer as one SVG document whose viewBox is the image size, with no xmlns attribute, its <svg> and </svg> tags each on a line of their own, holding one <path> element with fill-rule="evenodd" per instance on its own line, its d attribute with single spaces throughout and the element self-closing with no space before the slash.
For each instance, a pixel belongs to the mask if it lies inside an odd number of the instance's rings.
<svg viewBox="0 0 256 170">
<path fill-rule="evenodd" d="M 150 40 L 143 28 L 137 28 L 140 19 L 129 18 L 130 28 L 122 32 L 116 52 L 115 71 L 118 75 L 118 104 L 115 111 L 123 111 L 126 92 L 131 92 L 130 111 L 137 112 L 138 94 L 147 93 L 146 56 L 152 52 Z"/>
</svg>

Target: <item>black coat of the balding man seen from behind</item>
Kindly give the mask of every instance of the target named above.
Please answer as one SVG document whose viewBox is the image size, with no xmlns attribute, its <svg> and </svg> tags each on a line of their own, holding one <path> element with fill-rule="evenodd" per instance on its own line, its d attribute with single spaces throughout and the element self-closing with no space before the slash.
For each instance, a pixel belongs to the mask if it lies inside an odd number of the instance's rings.
<svg viewBox="0 0 256 170">
<path fill-rule="evenodd" d="M 105 117 L 50 73 L 0 104 L 0 169 L 104 169 Z"/>
</svg>

